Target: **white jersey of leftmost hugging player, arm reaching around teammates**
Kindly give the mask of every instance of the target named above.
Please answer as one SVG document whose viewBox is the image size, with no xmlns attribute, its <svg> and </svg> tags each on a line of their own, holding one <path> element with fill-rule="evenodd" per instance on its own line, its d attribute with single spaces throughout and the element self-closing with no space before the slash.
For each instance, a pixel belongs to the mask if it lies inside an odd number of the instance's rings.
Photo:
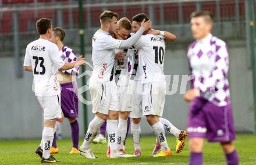
<svg viewBox="0 0 256 165">
<path fill-rule="evenodd" d="M 104 83 L 113 80 L 115 49 L 122 40 L 116 40 L 109 33 L 98 30 L 93 35 L 93 74 L 91 82 Z"/>
</svg>

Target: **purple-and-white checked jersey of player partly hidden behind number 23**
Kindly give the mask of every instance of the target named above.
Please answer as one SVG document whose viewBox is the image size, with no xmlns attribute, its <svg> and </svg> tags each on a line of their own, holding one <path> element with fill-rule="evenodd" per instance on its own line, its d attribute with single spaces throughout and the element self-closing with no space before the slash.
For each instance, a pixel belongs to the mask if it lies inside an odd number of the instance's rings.
<svg viewBox="0 0 256 165">
<path fill-rule="evenodd" d="M 75 62 L 77 60 L 76 55 L 74 55 L 74 51 L 70 48 L 67 48 L 67 46 L 63 46 L 61 51 L 59 51 L 61 58 L 64 62 Z M 79 67 L 73 67 L 69 70 L 62 70 L 62 73 L 65 74 L 72 74 L 72 75 L 78 75 L 79 74 Z"/>
</svg>

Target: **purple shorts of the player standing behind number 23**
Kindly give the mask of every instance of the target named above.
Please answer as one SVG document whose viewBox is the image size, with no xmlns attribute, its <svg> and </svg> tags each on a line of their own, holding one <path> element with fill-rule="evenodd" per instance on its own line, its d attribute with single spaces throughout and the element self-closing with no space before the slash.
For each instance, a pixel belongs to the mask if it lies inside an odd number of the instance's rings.
<svg viewBox="0 0 256 165">
<path fill-rule="evenodd" d="M 61 84 L 61 109 L 64 116 L 71 119 L 78 117 L 78 98 L 73 90 L 77 92 L 72 83 Z"/>
</svg>

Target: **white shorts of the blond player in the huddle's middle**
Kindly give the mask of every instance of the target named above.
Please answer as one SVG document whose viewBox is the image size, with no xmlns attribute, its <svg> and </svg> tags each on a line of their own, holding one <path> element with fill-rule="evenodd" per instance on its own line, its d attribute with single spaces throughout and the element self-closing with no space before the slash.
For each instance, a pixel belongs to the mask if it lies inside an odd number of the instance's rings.
<svg viewBox="0 0 256 165">
<path fill-rule="evenodd" d="M 130 112 L 131 94 L 129 94 L 129 85 L 116 86 L 118 89 L 118 100 L 121 112 Z"/>
</svg>

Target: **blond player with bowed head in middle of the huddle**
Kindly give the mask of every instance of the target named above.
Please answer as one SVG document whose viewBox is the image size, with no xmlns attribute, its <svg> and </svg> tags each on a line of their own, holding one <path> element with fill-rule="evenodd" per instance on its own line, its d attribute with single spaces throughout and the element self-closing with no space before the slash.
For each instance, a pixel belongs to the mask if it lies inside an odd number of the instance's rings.
<svg viewBox="0 0 256 165">
<path fill-rule="evenodd" d="M 118 21 L 118 28 L 116 28 L 115 38 L 119 40 L 126 40 L 130 37 L 131 23 L 126 17 Z M 125 139 L 129 131 L 128 120 L 130 112 L 130 90 L 129 84 L 129 71 L 128 71 L 128 58 L 130 49 L 118 49 L 115 54 L 115 80 L 118 88 L 119 99 L 119 123 L 118 123 L 118 150 L 125 152 Z"/>
</svg>

